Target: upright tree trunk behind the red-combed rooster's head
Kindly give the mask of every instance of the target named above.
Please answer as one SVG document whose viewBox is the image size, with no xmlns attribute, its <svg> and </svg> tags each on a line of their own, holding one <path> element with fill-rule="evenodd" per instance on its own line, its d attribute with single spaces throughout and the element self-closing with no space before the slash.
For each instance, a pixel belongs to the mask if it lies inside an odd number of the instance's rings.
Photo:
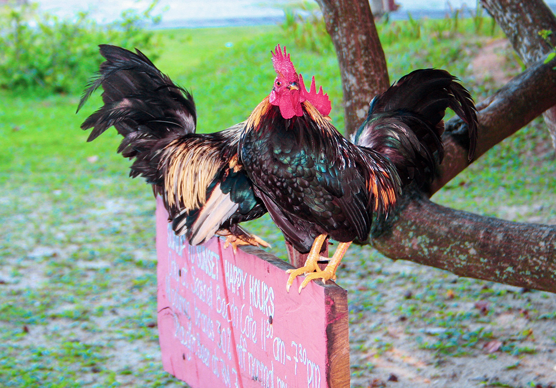
<svg viewBox="0 0 556 388">
<path fill-rule="evenodd" d="M 369 102 L 389 86 L 386 58 L 368 0 L 317 0 L 334 42 L 344 91 L 345 128 L 353 133 Z"/>
</svg>

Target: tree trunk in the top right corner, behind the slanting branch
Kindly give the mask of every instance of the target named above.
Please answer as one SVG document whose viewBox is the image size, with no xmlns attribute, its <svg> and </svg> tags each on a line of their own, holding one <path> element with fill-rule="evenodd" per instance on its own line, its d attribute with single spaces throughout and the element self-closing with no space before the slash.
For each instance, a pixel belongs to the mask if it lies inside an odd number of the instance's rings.
<svg viewBox="0 0 556 388">
<path fill-rule="evenodd" d="M 556 46 L 556 16 L 542 0 L 481 0 L 502 27 L 514 50 L 527 66 L 543 58 Z M 552 31 L 546 42 L 539 31 Z M 556 107 L 543 113 L 552 145 L 556 149 Z"/>
</svg>

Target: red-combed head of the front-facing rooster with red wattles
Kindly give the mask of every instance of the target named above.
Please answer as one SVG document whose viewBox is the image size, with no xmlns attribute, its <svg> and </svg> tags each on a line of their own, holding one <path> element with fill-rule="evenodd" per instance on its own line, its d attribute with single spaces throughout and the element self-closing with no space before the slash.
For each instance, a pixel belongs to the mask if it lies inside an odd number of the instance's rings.
<svg viewBox="0 0 556 388">
<path fill-rule="evenodd" d="M 272 64 L 277 77 L 269 101 L 272 105 L 280 107 L 282 117 L 303 116 L 301 103 L 305 101 L 311 102 L 323 116 L 330 113 L 331 104 L 328 94 L 322 92 L 322 87 L 319 93 L 316 93 L 315 77 L 312 78 L 311 90 L 307 92 L 303 78 L 295 71 L 290 54 L 286 53 L 286 47 L 282 53 L 280 44 L 276 46 L 276 51 L 272 52 Z"/>
</svg>

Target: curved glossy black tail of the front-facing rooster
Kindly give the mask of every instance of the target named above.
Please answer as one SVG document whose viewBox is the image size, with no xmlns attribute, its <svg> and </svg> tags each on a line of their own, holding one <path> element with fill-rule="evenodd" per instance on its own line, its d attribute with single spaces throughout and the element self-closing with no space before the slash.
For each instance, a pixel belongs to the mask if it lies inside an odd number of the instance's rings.
<svg viewBox="0 0 556 388">
<path fill-rule="evenodd" d="M 420 69 L 400 78 L 371 101 L 354 142 L 388 156 L 404 182 L 423 183 L 433 176 L 437 159 L 443 159 L 443 118 L 451 108 L 468 125 L 472 160 L 476 110 L 469 92 L 456 80 L 440 69 Z"/>
</svg>

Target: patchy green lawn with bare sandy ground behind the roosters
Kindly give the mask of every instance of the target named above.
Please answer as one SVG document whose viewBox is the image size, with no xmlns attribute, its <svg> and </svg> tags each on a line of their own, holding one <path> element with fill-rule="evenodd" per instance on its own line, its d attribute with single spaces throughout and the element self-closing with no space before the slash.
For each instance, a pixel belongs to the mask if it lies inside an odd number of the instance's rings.
<svg viewBox="0 0 556 388">
<path fill-rule="evenodd" d="M 480 33 L 474 26 L 472 19 L 457 29 L 451 19 L 380 26 L 391 80 L 438 67 L 476 101 L 493 93 L 500 79 L 473 59 L 500 42 L 500 32 L 491 35 L 487 22 Z M 156 33 L 162 55 L 155 64 L 193 92 L 199 131 L 244 120 L 269 93 L 276 43 L 304 75 L 315 74 L 342 127 L 339 69 L 325 38 L 315 49 L 280 26 Z M 98 43 L 108 42 L 91 42 Z M 519 64 L 502 47 L 492 66 L 511 77 Z M 115 131 L 87 143 L 79 128 L 100 106 L 98 94 L 76 115 L 78 95 L 0 90 L 0 386 L 183 386 L 160 362 L 152 192 L 127 177 L 130 162 L 115 152 Z M 433 200 L 555 223 L 556 158 L 543 122 L 493 148 Z M 247 228 L 285 258 L 268 217 Z M 368 246 L 350 248 L 344 262 L 337 283 L 349 291 L 353 386 L 556 381 L 554 295 L 393 262 Z"/>
</svg>

